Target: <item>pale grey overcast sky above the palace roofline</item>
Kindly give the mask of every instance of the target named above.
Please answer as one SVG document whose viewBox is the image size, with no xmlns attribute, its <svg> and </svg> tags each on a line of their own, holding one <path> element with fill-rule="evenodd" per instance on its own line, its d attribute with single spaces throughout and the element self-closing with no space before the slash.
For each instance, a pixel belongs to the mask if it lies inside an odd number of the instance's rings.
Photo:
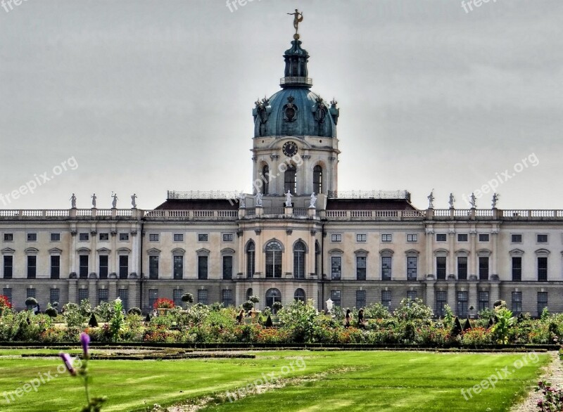
<svg viewBox="0 0 563 412">
<path fill-rule="evenodd" d="M 467 1 L 466 1 L 467 4 Z M 563 1 L 26 0 L 0 8 L 3 208 L 130 207 L 252 189 L 258 96 L 304 13 L 313 91 L 339 101 L 339 189 L 426 208 L 502 177 L 498 207 L 563 209 Z M 526 158 L 526 165 L 522 160 Z M 57 169 L 65 160 L 77 167 Z M 68 162 L 69 163 L 69 162 Z M 534 166 L 535 165 L 535 166 Z M 516 171 L 514 167 L 516 166 Z M 62 172 L 49 181 L 55 172 Z M 495 183 L 493 183 L 493 186 Z M 4 202 L 6 202 L 4 200 Z M 491 207 L 491 193 L 477 200 Z"/>
</svg>

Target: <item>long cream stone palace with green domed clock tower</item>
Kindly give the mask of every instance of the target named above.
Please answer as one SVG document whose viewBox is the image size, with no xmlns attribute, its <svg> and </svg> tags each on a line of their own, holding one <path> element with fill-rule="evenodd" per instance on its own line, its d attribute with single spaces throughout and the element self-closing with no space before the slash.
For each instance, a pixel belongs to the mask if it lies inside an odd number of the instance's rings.
<svg viewBox="0 0 563 412">
<path fill-rule="evenodd" d="M 258 309 L 393 309 L 410 297 L 436 316 L 498 299 L 533 316 L 563 311 L 563 210 L 417 210 L 407 191 L 338 190 L 339 108 L 312 91 L 301 44 L 295 34 L 281 89 L 252 110 L 253 193 L 168 191 L 154 210 L 0 210 L 0 292 L 16 309 L 26 297 L 42 308 L 120 297 L 146 313 L 191 292 L 224 305 L 258 295 Z"/>
</svg>

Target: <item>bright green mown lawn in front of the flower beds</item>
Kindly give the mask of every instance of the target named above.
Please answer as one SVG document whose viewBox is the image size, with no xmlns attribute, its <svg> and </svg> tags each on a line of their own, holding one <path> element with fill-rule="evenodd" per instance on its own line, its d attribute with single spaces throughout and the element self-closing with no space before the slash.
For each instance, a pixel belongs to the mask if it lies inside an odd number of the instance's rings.
<svg viewBox="0 0 563 412">
<path fill-rule="evenodd" d="M 44 351 L 0 351 L 0 411 L 80 411 L 84 389 L 77 378 L 57 371 L 61 361 L 4 357 L 22 352 Z M 153 404 L 210 396 L 223 401 L 213 400 L 203 411 L 495 412 L 507 411 L 548 362 L 547 354 L 536 358 L 530 354 L 381 351 L 254 353 L 256 359 L 91 361 L 91 394 L 109 398 L 103 411 L 145 411 Z M 37 392 L 13 394 L 11 400 L 9 392 L 39 374 L 48 380 L 48 373 L 51 380 L 41 383 Z M 467 394 L 491 375 L 502 377 L 495 388 Z M 230 391 L 234 399 L 239 388 L 251 384 L 253 389 L 252 383 L 263 376 L 283 378 L 287 385 L 233 402 L 218 396 Z"/>
</svg>

